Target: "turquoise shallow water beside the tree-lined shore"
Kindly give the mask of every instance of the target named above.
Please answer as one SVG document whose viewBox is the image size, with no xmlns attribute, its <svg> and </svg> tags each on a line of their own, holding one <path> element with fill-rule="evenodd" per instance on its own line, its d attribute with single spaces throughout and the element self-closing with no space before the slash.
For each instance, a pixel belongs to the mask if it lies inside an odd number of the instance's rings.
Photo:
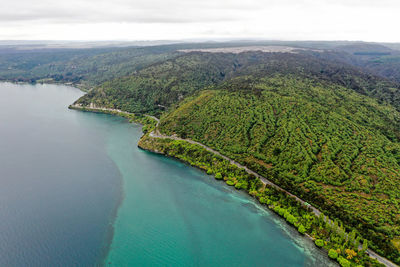
<svg viewBox="0 0 400 267">
<path fill-rule="evenodd" d="M 132 129 L 125 138 L 121 133 L 108 142 L 124 200 L 106 265 L 335 266 L 245 193 L 136 148 L 140 127 L 126 127 Z"/>
</svg>

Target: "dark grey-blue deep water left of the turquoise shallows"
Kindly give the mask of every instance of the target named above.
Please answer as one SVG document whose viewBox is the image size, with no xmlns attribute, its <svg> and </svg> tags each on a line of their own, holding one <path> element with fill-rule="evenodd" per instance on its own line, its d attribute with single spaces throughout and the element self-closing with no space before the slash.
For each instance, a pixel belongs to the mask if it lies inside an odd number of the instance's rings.
<svg viewBox="0 0 400 267">
<path fill-rule="evenodd" d="M 0 84 L 0 266 L 90 266 L 121 196 L 107 135 L 118 118 L 66 107 L 56 85 Z"/>
</svg>

